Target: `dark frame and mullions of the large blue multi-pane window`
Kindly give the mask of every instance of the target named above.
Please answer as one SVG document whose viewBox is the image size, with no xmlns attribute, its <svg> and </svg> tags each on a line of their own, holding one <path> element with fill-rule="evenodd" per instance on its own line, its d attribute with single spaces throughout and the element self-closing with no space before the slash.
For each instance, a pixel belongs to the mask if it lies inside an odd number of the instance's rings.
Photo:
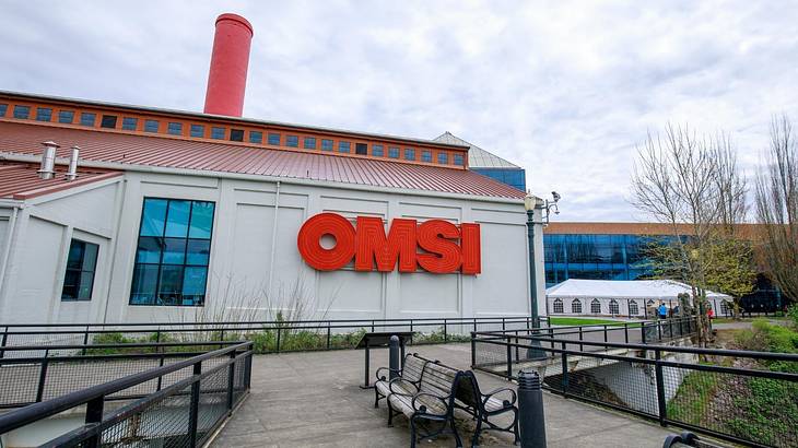
<svg viewBox="0 0 798 448">
<path fill-rule="evenodd" d="M 138 259 L 138 252 L 139 252 L 139 246 L 140 246 L 140 239 L 142 237 L 141 231 L 142 231 L 142 226 L 144 225 L 144 204 L 146 203 L 146 200 L 148 199 L 166 201 L 166 211 L 164 213 L 164 229 L 162 232 L 162 235 L 160 237 L 157 237 L 157 238 L 162 238 L 162 239 L 165 239 L 165 238 L 175 238 L 175 239 L 183 239 L 183 240 L 185 240 L 185 249 L 184 249 L 184 254 L 183 254 L 183 263 L 180 263 L 180 264 L 177 264 L 177 263 L 164 263 L 164 261 L 163 261 L 164 260 L 164 250 L 163 249 L 161 250 L 161 256 L 159 258 L 159 262 L 157 263 L 146 263 L 146 262 L 141 262 L 140 263 L 140 262 L 137 261 L 137 259 Z M 186 226 L 187 226 L 187 228 L 186 228 L 186 237 L 171 237 L 171 236 L 166 236 L 166 227 L 168 225 L 168 217 L 169 217 L 169 205 L 171 205 L 172 201 L 185 201 L 185 202 L 188 202 L 189 203 L 189 216 L 188 216 L 188 221 L 186 223 Z M 206 239 L 206 238 L 191 238 L 190 237 L 191 221 L 193 219 L 193 203 L 195 202 L 207 202 L 207 203 L 213 204 L 213 214 L 211 216 L 211 228 L 210 228 L 209 235 L 208 235 L 208 264 L 203 264 L 203 266 L 202 264 L 189 264 L 189 263 L 186 262 L 188 260 L 188 246 L 189 246 L 189 241 L 191 239 L 199 239 L 199 240 L 204 240 Z M 136 245 L 134 257 L 133 257 L 133 272 L 131 273 L 131 278 L 130 278 L 131 279 L 130 280 L 130 292 L 128 294 L 128 305 L 129 306 L 155 306 L 155 307 L 204 307 L 206 306 L 206 298 L 208 296 L 208 282 L 209 282 L 210 272 L 211 272 L 211 258 L 212 258 L 211 250 L 213 248 L 213 232 L 215 229 L 216 205 L 218 204 L 216 204 L 215 201 L 208 201 L 208 200 L 202 200 L 202 199 L 163 198 L 163 197 L 151 197 L 151 196 L 145 196 L 145 197 L 142 198 L 142 200 L 141 200 L 141 216 L 139 219 L 139 233 L 138 233 L 138 236 L 137 236 L 137 239 L 136 239 L 137 245 Z M 150 236 L 145 236 L 145 237 L 150 237 Z M 133 288 L 136 286 L 136 283 L 133 282 L 133 280 L 136 278 L 136 268 L 138 266 L 141 266 L 141 264 L 143 264 L 143 266 L 157 266 L 157 273 L 156 273 L 156 276 L 155 276 L 155 290 L 154 290 L 153 303 L 148 303 L 148 304 L 133 303 L 133 293 L 134 293 L 134 290 Z M 183 286 L 185 284 L 186 268 L 187 267 L 204 267 L 204 269 L 206 269 L 206 283 L 204 283 L 204 294 L 203 294 L 203 297 L 202 297 L 202 303 L 200 303 L 200 304 L 195 303 L 192 305 L 185 305 L 185 304 L 181 303 L 183 302 L 183 298 L 181 298 L 180 299 L 180 303 L 176 303 L 176 304 L 159 304 L 157 302 L 161 300 L 160 297 L 159 297 L 159 292 L 160 292 L 160 288 L 161 288 L 161 276 L 162 276 L 162 271 L 163 271 L 162 268 L 164 266 L 180 266 L 180 267 L 183 267 L 183 278 L 180 280 L 180 282 L 181 282 L 180 283 L 180 286 L 181 286 L 180 288 L 181 290 L 183 290 Z M 180 294 L 183 294 L 183 293 L 180 293 Z"/>
</svg>

